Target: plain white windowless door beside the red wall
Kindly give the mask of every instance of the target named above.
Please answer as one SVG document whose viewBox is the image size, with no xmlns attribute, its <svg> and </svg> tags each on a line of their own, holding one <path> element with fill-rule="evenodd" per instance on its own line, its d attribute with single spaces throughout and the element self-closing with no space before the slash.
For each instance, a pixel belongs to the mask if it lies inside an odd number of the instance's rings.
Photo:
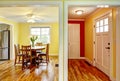
<svg viewBox="0 0 120 81">
<path fill-rule="evenodd" d="M 80 57 L 80 24 L 68 24 L 68 57 L 78 59 Z"/>
</svg>

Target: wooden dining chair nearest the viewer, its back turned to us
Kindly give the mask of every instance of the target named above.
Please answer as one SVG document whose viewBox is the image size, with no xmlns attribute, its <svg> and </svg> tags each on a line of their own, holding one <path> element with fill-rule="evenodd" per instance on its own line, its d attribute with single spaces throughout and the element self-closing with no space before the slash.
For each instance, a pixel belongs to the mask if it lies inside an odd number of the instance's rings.
<svg viewBox="0 0 120 81">
<path fill-rule="evenodd" d="M 22 70 L 25 68 L 31 68 L 32 65 L 32 54 L 31 45 L 22 45 Z"/>
</svg>

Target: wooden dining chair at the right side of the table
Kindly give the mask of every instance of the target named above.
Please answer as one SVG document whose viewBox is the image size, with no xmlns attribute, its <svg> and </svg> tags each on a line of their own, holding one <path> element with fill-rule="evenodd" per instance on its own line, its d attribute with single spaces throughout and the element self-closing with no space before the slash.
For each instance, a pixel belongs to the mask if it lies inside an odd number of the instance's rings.
<svg viewBox="0 0 120 81">
<path fill-rule="evenodd" d="M 38 59 L 41 60 L 40 63 L 49 62 L 49 44 L 46 44 L 45 52 L 40 52 L 38 54 Z"/>
</svg>

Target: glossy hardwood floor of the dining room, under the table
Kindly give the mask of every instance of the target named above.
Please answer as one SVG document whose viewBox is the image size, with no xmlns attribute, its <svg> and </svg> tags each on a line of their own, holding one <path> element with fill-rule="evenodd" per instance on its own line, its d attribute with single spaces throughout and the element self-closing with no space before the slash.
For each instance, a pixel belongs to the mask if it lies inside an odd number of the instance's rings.
<svg viewBox="0 0 120 81">
<path fill-rule="evenodd" d="M 0 64 L 0 81 L 58 81 L 58 57 L 50 57 L 47 65 L 22 70 L 21 65 L 14 66 L 14 61 Z"/>
</svg>

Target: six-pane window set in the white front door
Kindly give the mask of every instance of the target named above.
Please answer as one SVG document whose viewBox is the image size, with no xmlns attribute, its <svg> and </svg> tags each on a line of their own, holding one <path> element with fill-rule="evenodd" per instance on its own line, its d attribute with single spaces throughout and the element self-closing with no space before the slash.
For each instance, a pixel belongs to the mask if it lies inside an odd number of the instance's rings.
<svg viewBox="0 0 120 81">
<path fill-rule="evenodd" d="M 108 17 L 97 20 L 95 27 L 96 27 L 96 33 L 108 32 L 109 31 Z"/>
</svg>

